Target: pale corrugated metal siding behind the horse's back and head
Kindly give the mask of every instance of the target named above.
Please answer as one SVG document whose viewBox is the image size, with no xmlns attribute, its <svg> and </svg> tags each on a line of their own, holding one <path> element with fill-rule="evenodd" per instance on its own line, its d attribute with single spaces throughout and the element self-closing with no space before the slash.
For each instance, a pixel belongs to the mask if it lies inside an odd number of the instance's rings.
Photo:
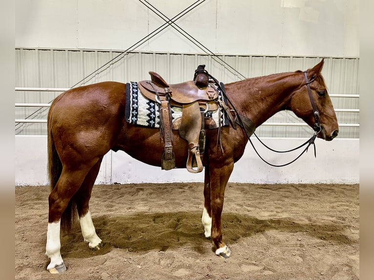
<svg viewBox="0 0 374 280">
<path fill-rule="evenodd" d="M 120 56 L 119 56 L 120 55 Z M 199 64 L 216 79 L 231 82 L 273 73 L 306 70 L 320 61 L 317 57 L 222 55 L 219 59 L 203 54 L 174 54 L 95 50 L 16 49 L 16 87 L 69 88 L 106 64 L 83 84 L 104 80 L 120 82 L 148 79 L 148 71 L 160 73 L 168 82 L 178 83 L 193 78 Z M 224 63 L 230 67 L 224 67 Z M 358 58 L 325 58 L 323 76 L 330 94 L 358 94 Z M 48 103 L 60 92 L 16 92 L 17 103 Z M 358 109 L 358 98 L 332 97 L 335 109 Z M 46 119 L 48 108 L 16 107 L 16 119 Z M 337 112 L 339 123 L 359 123 L 359 113 Z M 280 112 L 269 122 L 298 122 L 290 112 Z M 259 137 L 309 137 L 306 126 L 260 126 Z M 45 123 L 16 124 L 16 134 L 45 135 Z M 339 138 L 359 138 L 358 127 L 340 127 Z"/>
</svg>

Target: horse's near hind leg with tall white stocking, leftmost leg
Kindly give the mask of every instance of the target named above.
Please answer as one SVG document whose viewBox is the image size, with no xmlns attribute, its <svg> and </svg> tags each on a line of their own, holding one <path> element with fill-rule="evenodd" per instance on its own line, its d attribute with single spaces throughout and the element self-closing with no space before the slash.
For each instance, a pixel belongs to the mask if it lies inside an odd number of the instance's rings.
<svg viewBox="0 0 374 280">
<path fill-rule="evenodd" d="M 66 270 L 60 253 L 60 225 L 62 213 L 69 201 L 81 187 L 91 165 L 81 165 L 79 169 L 62 168 L 61 176 L 49 195 L 49 213 L 47 227 L 47 242 L 45 254 L 51 259 L 47 266 L 50 273 L 61 273 Z M 68 221 L 69 222 L 69 221 Z"/>
</svg>

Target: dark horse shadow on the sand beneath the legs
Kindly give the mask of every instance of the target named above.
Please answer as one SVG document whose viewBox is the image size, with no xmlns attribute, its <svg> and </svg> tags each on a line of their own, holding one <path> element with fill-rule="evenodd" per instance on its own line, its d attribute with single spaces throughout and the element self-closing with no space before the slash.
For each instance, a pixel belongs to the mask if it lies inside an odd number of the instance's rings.
<svg viewBox="0 0 374 280">
<path fill-rule="evenodd" d="M 187 246 L 201 255 L 208 253 L 206 243 L 209 240 L 204 237 L 200 212 L 103 215 L 94 218 L 93 222 L 105 246 L 99 251 L 89 250 L 80 228 L 76 227 L 72 233 L 62 236 L 61 252 L 65 258 L 90 258 L 107 254 L 114 248 L 140 253 Z M 333 244 L 352 243 L 342 234 L 344 226 L 336 223 L 297 223 L 290 218 L 259 220 L 249 215 L 224 213 L 222 227 L 224 240 L 228 244 L 270 230 L 305 232 Z"/>
</svg>

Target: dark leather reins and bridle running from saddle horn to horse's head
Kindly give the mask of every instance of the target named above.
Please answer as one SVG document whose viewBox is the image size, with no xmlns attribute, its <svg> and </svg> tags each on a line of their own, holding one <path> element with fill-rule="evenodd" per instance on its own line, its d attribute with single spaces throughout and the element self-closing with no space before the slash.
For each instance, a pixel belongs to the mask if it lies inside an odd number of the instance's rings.
<svg viewBox="0 0 374 280">
<path fill-rule="evenodd" d="M 256 148 L 254 147 L 253 143 L 252 143 L 252 140 L 250 140 L 250 136 L 251 136 L 251 133 L 248 131 L 247 129 L 247 126 L 244 125 L 244 122 L 241 118 L 241 115 L 238 113 L 238 111 L 236 110 L 235 106 L 232 104 L 232 102 L 229 100 L 229 98 L 227 97 L 226 95 L 226 91 L 225 91 L 225 87 L 224 87 L 224 84 L 221 82 L 218 82 L 218 80 L 216 80 L 214 77 L 212 77 L 210 74 L 208 73 L 205 73 L 206 75 L 209 76 L 209 78 L 213 79 L 215 81 L 215 83 L 219 86 L 219 88 L 221 89 L 222 91 L 222 94 L 225 96 L 226 100 L 228 100 L 228 102 L 230 103 L 230 105 L 232 106 L 233 108 L 233 111 L 235 112 L 236 114 L 236 117 L 237 119 L 239 120 L 239 124 L 241 125 L 241 127 L 244 129 L 244 131 L 246 132 L 246 135 L 247 135 L 247 138 L 250 142 L 250 144 L 252 145 L 254 151 L 256 152 L 256 154 L 259 156 L 259 158 L 261 160 L 263 160 L 265 163 L 269 164 L 270 166 L 274 166 L 274 167 L 283 167 L 283 166 L 286 166 L 286 165 L 289 165 L 291 164 L 292 162 L 296 161 L 297 159 L 299 159 L 305 152 L 308 151 L 308 148 L 310 145 L 313 145 L 313 148 L 314 148 L 314 157 L 316 157 L 316 150 L 315 150 L 315 144 L 314 144 L 314 140 L 317 138 L 317 135 L 318 133 L 321 131 L 322 127 L 321 127 L 321 123 L 320 123 L 320 120 L 319 120 L 319 111 L 317 109 L 317 107 L 315 106 L 315 103 L 314 103 L 314 100 L 313 100 L 313 97 L 312 97 L 312 91 L 311 91 L 311 87 L 310 87 L 310 83 L 316 79 L 316 77 L 312 77 L 311 80 L 308 80 L 308 76 L 307 76 L 307 71 L 304 71 L 304 77 L 305 77 L 305 85 L 307 86 L 307 89 L 308 89 L 308 94 L 309 94 L 309 99 L 311 100 L 311 103 L 312 103 L 312 108 L 313 108 L 313 115 L 314 115 L 314 119 L 315 119 L 315 123 L 314 123 L 314 133 L 312 135 L 312 137 L 310 139 L 308 139 L 307 141 L 305 141 L 303 144 L 301 144 L 300 146 L 296 147 L 296 148 L 293 148 L 291 150 L 287 150 L 287 151 L 277 151 L 277 150 L 274 150 L 274 149 L 271 149 L 270 147 L 268 147 L 264 142 L 262 142 L 258 137 L 257 135 L 253 132 L 254 136 L 260 141 L 261 144 L 263 144 L 266 148 L 268 148 L 270 151 L 273 151 L 273 152 L 276 152 L 276 153 L 288 153 L 288 152 L 292 152 L 292 151 L 295 151 L 295 150 L 298 150 L 300 149 L 301 147 L 307 145 L 305 147 L 305 149 L 301 152 L 301 154 L 299 156 L 297 156 L 294 160 L 291 160 L 290 162 L 288 163 L 285 163 L 285 164 L 280 164 L 280 165 L 276 165 L 276 164 L 272 164 L 266 160 L 264 160 L 260 154 L 258 153 L 258 151 L 256 150 Z"/>
</svg>

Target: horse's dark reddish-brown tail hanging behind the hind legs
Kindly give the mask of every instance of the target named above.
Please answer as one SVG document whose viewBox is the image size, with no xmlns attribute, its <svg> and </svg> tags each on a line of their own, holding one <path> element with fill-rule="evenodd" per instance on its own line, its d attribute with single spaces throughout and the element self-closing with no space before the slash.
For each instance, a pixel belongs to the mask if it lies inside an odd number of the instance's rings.
<svg viewBox="0 0 374 280">
<path fill-rule="evenodd" d="M 52 109 L 53 103 L 48 112 L 47 120 L 47 146 L 48 146 L 48 175 L 50 180 L 51 191 L 55 188 L 57 181 L 59 180 L 62 173 L 62 162 L 57 153 L 55 141 L 53 140 L 51 120 L 52 120 Z M 61 216 L 61 228 L 64 232 L 70 232 L 72 229 L 72 224 L 75 224 L 77 216 L 77 205 L 72 198 L 66 209 L 63 211 Z"/>
</svg>

